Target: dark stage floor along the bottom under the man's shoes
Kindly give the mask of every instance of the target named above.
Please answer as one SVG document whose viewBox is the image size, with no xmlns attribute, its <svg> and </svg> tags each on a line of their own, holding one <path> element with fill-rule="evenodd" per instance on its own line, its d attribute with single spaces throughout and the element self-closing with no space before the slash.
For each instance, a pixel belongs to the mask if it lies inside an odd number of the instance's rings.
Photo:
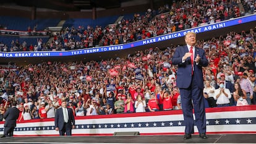
<svg viewBox="0 0 256 144">
<path fill-rule="evenodd" d="M 136 136 L 85 136 L 85 137 L 11 137 L 0 138 L 0 143 L 256 143 L 255 134 L 208 135 L 207 140 L 192 135 L 136 135 Z"/>
</svg>

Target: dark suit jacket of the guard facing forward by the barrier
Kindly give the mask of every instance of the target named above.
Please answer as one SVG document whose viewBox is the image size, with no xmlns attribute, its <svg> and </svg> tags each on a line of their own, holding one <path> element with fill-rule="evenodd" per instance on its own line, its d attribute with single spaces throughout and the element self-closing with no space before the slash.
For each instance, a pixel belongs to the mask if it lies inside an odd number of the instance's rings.
<svg viewBox="0 0 256 144">
<path fill-rule="evenodd" d="M 75 118 L 74 118 L 72 109 L 67 108 L 67 112 L 68 112 L 68 116 L 69 116 L 69 121 L 67 122 L 67 124 L 69 125 L 70 129 L 72 129 L 72 125 L 75 125 Z M 64 116 L 63 116 L 62 108 L 57 109 L 54 123 L 55 123 L 55 128 L 59 127 L 59 130 L 63 129 Z"/>
</svg>

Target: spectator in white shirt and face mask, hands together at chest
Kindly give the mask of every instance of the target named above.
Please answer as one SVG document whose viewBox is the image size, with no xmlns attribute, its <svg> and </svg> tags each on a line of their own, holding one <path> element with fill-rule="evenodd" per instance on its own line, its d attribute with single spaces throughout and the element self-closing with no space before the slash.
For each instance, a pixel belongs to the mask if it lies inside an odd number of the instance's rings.
<svg viewBox="0 0 256 144">
<path fill-rule="evenodd" d="M 229 106 L 231 93 L 228 88 L 224 87 L 224 81 L 220 81 L 220 88 L 215 90 L 214 99 L 217 107 Z"/>
</svg>

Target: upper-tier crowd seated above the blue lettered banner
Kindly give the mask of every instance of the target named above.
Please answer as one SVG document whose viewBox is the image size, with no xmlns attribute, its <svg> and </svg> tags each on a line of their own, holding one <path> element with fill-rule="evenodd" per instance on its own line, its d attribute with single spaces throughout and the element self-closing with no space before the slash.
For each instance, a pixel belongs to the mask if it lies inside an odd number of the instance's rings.
<svg viewBox="0 0 256 144">
<path fill-rule="evenodd" d="M 67 27 L 48 41 L 27 44 L 15 41 L 17 48 L 0 44 L 0 51 L 51 51 L 109 46 L 143 40 L 209 23 L 253 14 L 256 2 L 250 1 L 177 1 L 158 11 L 148 9 L 145 15 L 134 14 L 134 19 L 122 19 L 117 25 L 78 28 Z M 13 44 L 12 44 L 13 45 Z"/>
</svg>

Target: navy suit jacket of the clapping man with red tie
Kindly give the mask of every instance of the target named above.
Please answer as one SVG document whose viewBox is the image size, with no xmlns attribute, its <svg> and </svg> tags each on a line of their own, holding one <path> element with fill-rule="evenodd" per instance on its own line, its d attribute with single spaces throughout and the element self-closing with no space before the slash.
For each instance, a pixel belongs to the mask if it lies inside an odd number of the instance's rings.
<svg viewBox="0 0 256 144">
<path fill-rule="evenodd" d="M 177 87 L 179 88 L 189 88 L 192 81 L 192 66 L 190 57 L 187 57 L 185 62 L 182 63 L 182 57 L 185 53 L 188 53 L 189 49 L 187 45 L 179 46 L 173 55 L 172 62 L 174 65 L 178 65 L 177 69 Z M 194 61 L 194 78 L 197 80 L 198 88 L 203 89 L 203 72 L 202 67 L 208 66 L 208 60 L 205 57 L 205 51 L 202 48 L 195 47 L 194 59 L 199 54 L 200 62 L 198 64 Z"/>
</svg>

